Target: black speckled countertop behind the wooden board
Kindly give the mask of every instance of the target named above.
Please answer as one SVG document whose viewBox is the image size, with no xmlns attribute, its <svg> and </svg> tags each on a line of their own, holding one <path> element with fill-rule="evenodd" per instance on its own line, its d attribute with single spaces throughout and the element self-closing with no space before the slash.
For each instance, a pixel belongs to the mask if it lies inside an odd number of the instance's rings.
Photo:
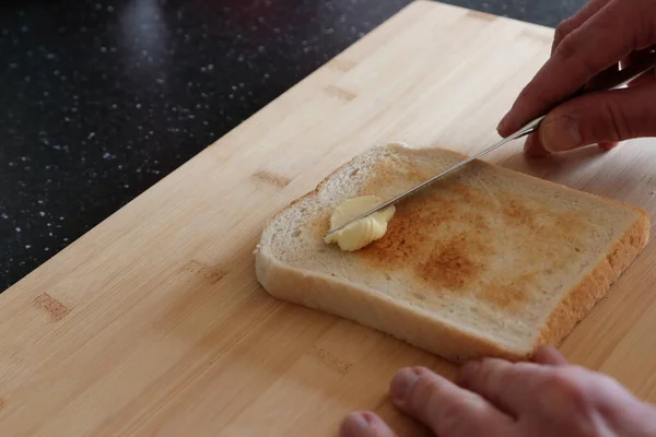
<svg viewBox="0 0 656 437">
<path fill-rule="evenodd" d="M 0 292 L 409 2 L 0 7 Z M 446 2 L 549 26 L 584 3 Z"/>
</svg>

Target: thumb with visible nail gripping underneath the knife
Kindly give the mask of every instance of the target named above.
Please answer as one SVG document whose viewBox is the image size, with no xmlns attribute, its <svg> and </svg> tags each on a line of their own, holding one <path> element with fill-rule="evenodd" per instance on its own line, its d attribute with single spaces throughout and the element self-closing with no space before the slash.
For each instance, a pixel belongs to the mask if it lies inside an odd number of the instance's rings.
<svg viewBox="0 0 656 437">
<path fill-rule="evenodd" d="M 656 84 L 604 91 L 566 102 L 547 115 L 534 151 L 563 152 L 595 143 L 656 137 Z"/>
</svg>

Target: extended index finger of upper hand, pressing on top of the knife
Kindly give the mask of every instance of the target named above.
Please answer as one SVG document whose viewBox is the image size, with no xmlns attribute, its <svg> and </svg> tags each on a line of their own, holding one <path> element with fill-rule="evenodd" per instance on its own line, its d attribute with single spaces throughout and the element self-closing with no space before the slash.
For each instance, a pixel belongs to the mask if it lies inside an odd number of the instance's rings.
<svg viewBox="0 0 656 437">
<path fill-rule="evenodd" d="M 500 122 L 500 134 L 518 130 L 631 51 L 651 46 L 655 25 L 651 11 L 610 1 L 560 43 Z"/>
</svg>

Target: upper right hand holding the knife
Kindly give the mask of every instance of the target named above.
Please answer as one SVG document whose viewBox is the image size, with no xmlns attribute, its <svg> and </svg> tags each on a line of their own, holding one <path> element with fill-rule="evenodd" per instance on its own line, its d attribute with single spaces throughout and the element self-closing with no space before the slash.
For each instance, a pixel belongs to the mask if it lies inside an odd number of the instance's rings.
<svg viewBox="0 0 656 437">
<path fill-rule="evenodd" d="M 654 0 L 591 0 L 557 31 L 551 57 L 499 125 L 507 137 L 551 108 L 526 152 L 543 155 L 656 135 L 656 70 L 628 88 L 604 91 L 555 106 L 600 74 L 612 74 L 656 49 Z"/>
</svg>

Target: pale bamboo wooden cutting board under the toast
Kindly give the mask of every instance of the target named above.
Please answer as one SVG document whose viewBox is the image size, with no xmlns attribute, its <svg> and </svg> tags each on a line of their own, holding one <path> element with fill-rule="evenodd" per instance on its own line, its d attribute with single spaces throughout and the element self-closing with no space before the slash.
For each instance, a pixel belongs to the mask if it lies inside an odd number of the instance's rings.
<svg viewBox="0 0 656 437">
<path fill-rule="evenodd" d="M 2 436 L 331 436 L 368 409 L 401 435 L 396 369 L 455 368 L 269 297 L 265 221 L 391 141 L 465 153 L 549 55 L 552 29 L 417 1 L 0 296 Z M 656 210 L 656 144 L 496 164 Z M 656 401 L 656 245 L 562 345 Z M 438 339 L 436 339 L 438 341 Z"/>
</svg>

